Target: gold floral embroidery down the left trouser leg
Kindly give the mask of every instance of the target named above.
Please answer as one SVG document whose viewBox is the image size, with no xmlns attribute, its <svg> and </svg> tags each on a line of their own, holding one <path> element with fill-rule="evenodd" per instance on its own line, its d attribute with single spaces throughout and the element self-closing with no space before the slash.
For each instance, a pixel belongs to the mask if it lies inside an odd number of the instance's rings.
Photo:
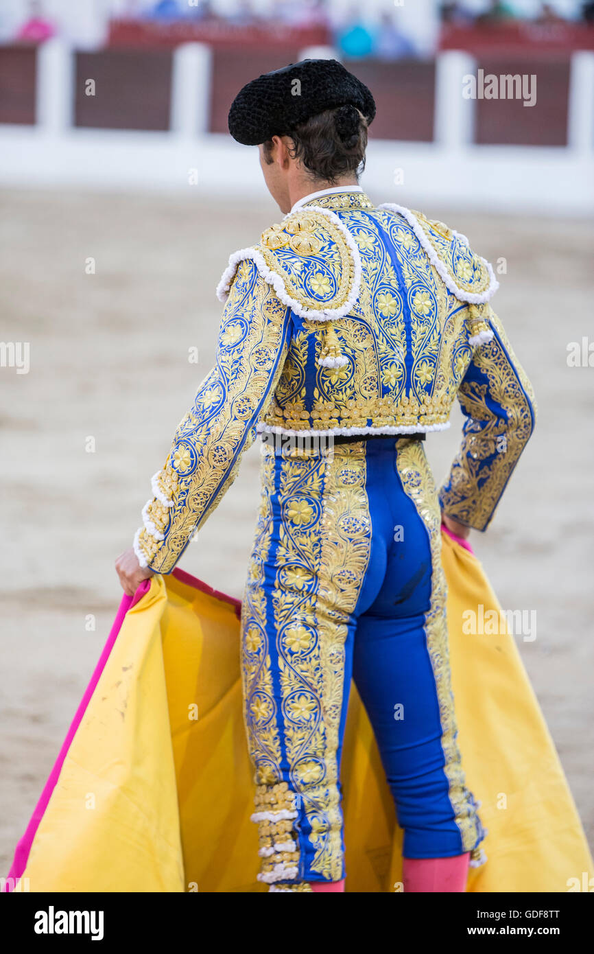
<svg viewBox="0 0 594 954">
<path fill-rule="evenodd" d="M 345 692 L 344 642 L 370 547 L 365 459 L 357 445 L 335 447 L 330 456 L 296 449 L 282 460 L 280 470 L 283 512 L 308 517 L 307 522 L 288 519 L 281 525 L 277 550 L 273 602 L 286 757 L 312 829 L 312 868 L 338 881 L 342 849 L 337 750 Z M 292 586 L 285 568 L 299 565 L 303 572 Z"/>
</svg>

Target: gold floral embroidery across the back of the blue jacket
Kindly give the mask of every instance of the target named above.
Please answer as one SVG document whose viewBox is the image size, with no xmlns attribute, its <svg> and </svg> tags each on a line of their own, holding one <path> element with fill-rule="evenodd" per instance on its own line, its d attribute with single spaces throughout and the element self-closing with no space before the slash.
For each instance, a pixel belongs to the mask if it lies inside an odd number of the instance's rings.
<svg viewBox="0 0 594 954">
<path fill-rule="evenodd" d="M 358 204 L 349 204 L 345 218 L 361 253 L 373 249 L 373 254 L 361 256 L 363 277 L 353 313 L 332 325 L 346 363 L 312 368 L 307 342 L 316 337 L 317 363 L 322 335 L 315 322 L 296 320 L 298 346 L 292 342 L 286 372 L 262 419 L 265 427 L 299 431 L 447 425 L 456 393 L 448 363 L 453 348 L 457 357 L 462 357 L 461 344 L 466 343 L 463 321 L 450 321 L 448 327 L 458 336 L 450 343 L 444 335 L 450 301 L 419 241 L 402 219 L 382 210 L 370 213 L 366 203 L 366 197 L 361 197 Z M 380 240 L 379 226 L 399 250 L 405 288 Z M 406 289 L 410 344 L 402 294 Z M 413 370 L 409 373 L 404 357 L 411 346 Z M 465 357 L 470 357 L 469 350 Z M 307 383 L 313 374 L 316 384 L 312 390 Z M 420 409 L 422 420 L 415 418 L 414 408 Z"/>
</svg>

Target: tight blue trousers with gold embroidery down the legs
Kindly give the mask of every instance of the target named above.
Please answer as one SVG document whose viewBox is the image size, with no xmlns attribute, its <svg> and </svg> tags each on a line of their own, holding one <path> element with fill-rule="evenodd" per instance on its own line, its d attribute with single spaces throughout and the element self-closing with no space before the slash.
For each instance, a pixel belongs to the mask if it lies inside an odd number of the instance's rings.
<svg viewBox="0 0 594 954">
<path fill-rule="evenodd" d="M 340 752 L 351 680 L 407 858 L 477 848 L 450 685 L 440 507 L 424 448 L 374 438 L 262 457 L 242 613 L 244 717 L 271 890 L 344 877 Z"/>
</svg>

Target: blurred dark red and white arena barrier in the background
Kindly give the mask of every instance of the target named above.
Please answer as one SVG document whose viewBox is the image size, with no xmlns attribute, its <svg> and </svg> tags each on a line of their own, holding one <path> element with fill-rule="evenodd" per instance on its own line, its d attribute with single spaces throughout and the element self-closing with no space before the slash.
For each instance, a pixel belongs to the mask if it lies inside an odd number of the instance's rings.
<svg viewBox="0 0 594 954">
<path fill-rule="evenodd" d="M 256 156 L 246 161 L 227 135 L 229 105 L 255 75 L 311 52 L 199 42 L 77 51 L 59 37 L 0 46 L 0 184 L 256 195 Z M 345 61 L 378 102 L 365 187 L 407 203 L 591 214 L 594 52 L 480 57 Z"/>
</svg>

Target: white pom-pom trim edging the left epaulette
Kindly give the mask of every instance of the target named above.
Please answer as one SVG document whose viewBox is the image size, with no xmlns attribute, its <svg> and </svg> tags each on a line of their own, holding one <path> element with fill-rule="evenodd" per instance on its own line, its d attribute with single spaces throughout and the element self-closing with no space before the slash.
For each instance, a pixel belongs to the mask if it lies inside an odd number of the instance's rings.
<svg viewBox="0 0 594 954">
<path fill-rule="evenodd" d="M 231 288 L 231 283 L 234 280 L 239 262 L 245 259 L 252 259 L 264 281 L 267 281 L 269 285 L 272 285 L 277 292 L 277 296 L 280 301 L 282 301 L 283 304 L 286 304 L 288 308 L 291 308 L 295 314 L 299 316 L 299 318 L 305 318 L 307 321 L 331 321 L 335 318 L 343 318 L 353 310 L 355 302 L 358 300 L 358 293 L 361 285 L 361 258 L 358 252 L 357 242 L 347 229 L 346 225 L 344 225 L 340 218 L 338 218 L 336 213 L 331 212 L 330 209 L 322 209 L 319 205 L 308 205 L 307 208 L 309 211 L 319 212 L 322 216 L 325 216 L 334 222 L 338 228 L 338 231 L 344 237 L 344 240 L 346 241 L 353 256 L 353 286 L 349 293 L 349 297 L 344 304 L 340 305 L 339 308 L 323 309 L 307 308 L 304 305 L 299 304 L 296 299 L 291 298 L 287 292 L 287 289 L 285 288 L 284 281 L 279 275 L 277 275 L 277 272 L 274 272 L 268 267 L 262 253 L 258 252 L 256 248 L 242 248 L 230 256 L 229 265 L 223 272 L 221 279 L 216 286 L 216 297 L 219 301 L 227 301 L 229 289 Z"/>
</svg>

